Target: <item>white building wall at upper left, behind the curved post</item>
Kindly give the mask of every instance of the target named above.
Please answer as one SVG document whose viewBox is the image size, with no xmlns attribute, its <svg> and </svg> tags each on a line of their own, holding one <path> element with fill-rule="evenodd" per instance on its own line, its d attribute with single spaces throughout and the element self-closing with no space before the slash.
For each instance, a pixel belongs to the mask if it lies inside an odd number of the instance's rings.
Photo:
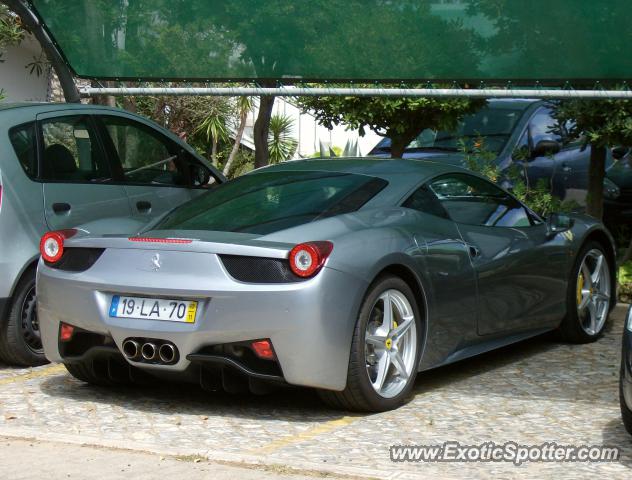
<svg viewBox="0 0 632 480">
<path fill-rule="evenodd" d="M 26 65 L 40 56 L 37 40 L 27 35 L 17 46 L 6 49 L 0 63 L 0 89 L 8 102 L 45 102 L 48 98 L 48 71 L 39 77 Z"/>
</svg>

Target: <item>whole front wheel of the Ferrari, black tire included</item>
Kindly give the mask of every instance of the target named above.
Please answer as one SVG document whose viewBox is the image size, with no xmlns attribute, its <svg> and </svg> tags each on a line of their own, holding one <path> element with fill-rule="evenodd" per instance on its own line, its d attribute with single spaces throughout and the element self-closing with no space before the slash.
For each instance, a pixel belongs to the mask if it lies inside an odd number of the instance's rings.
<svg viewBox="0 0 632 480">
<path fill-rule="evenodd" d="M 591 267 L 596 270 L 599 258 L 604 266 L 601 267 L 599 280 L 594 282 L 592 278 L 595 271 Z M 611 268 L 601 243 L 588 242 L 579 251 L 568 282 L 566 317 L 559 327 L 563 341 L 591 343 L 603 334 L 614 302 Z M 592 321 L 593 317 L 595 321 Z"/>
</svg>

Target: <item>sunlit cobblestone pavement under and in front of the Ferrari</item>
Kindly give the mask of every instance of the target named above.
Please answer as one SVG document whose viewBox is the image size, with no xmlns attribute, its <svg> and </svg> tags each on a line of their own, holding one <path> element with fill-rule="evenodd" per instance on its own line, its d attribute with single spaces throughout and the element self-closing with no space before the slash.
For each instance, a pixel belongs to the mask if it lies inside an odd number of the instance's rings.
<svg viewBox="0 0 632 480">
<path fill-rule="evenodd" d="M 604 338 L 564 345 L 538 337 L 420 374 L 406 406 L 376 415 L 323 407 L 314 392 L 265 397 L 197 388 L 103 389 L 63 367 L 0 366 L 0 435 L 212 461 L 379 478 L 632 478 L 618 368 L 624 306 Z M 513 441 L 621 448 L 614 463 L 392 463 L 389 445 Z M 0 448 L 0 462 L 2 448 Z"/>
</svg>

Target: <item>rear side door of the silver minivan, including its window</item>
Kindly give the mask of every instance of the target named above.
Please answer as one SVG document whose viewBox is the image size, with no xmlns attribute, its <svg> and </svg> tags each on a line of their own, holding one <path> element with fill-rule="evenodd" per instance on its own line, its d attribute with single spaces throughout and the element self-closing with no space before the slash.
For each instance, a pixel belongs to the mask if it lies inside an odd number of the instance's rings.
<svg viewBox="0 0 632 480">
<path fill-rule="evenodd" d="M 90 116 L 58 111 L 38 115 L 37 123 L 48 227 L 59 230 L 106 217 L 129 217 L 125 190 L 110 183 L 112 172 Z"/>
</svg>

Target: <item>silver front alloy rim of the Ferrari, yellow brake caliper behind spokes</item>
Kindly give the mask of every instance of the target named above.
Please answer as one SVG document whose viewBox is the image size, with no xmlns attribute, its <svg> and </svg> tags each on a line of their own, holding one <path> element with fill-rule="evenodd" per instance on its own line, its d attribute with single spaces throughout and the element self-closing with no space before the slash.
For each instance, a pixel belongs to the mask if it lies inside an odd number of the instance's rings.
<svg viewBox="0 0 632 480">
<path fill-rule="evenodd" d="M 577 274 L 577 316 L 584 332 L 597 335 L 610 310 L 610 268 L 602 251 L 586 253 Z"/>
</svg>

